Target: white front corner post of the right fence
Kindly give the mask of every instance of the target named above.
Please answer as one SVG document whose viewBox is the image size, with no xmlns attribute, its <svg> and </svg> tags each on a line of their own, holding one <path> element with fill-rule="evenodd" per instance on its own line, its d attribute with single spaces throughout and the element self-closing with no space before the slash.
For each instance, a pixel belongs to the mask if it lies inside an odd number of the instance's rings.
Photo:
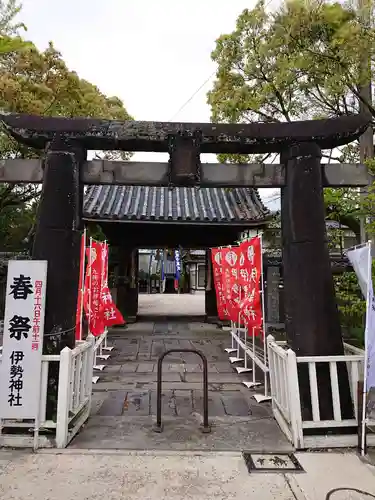
<svg viewBox="0 0 375 500">
<path fill-rule="evenodd" d="M 290 422 L 291 431 L 293 436 L 293 445 L 296 449 L 303 448 L 303 429 L 302 429 L 302 412 L 301 412 L 301 399 L 299 395 L 299 381 L 297 370 L 297 356 L 292 349 L 287 352 L 287 384 L 288 384 L 288 397 L 290 408 Z"/>
</svg>

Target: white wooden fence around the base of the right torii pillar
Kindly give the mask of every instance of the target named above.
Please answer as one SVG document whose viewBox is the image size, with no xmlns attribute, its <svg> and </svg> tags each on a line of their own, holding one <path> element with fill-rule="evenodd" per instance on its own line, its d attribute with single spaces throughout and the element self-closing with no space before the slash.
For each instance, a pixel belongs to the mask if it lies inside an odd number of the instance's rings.
<svg viewBox="0 0 375 500">
<path fill-rule="evenodd" d="M 302 356 L 297 357 L 291 349 L 275 342 L 272 336 L 267 338 L 269 373 L 274 416 L 283 432 L 297 449 L 346 447 L 357 445 L 358 399 L 357 384 L 363 373 L 364 352 L 345 345 L 347 354 L 343 356 Z M 321 417 L 319 408 L 319 386 L 316 364 L 326 363 L 330 373 L 333 419 Z M 353 418 L 344 419 L 341 411 L 337 363 L 346 363 L 350 391 L 353 402 Z M 312 420 L 303 420 L 298 365 L 306 364 L 310 385 Z M 337 428 L 352 428 L 349 434 L 333 434 L 329 431 Z M 309 435 L 309 430 L 318 431 Z M 321 431 L 321 432 L 319 432 Z M 368 436 L 368 444 L 375 445 L 375 436 Z"/>
</svg>

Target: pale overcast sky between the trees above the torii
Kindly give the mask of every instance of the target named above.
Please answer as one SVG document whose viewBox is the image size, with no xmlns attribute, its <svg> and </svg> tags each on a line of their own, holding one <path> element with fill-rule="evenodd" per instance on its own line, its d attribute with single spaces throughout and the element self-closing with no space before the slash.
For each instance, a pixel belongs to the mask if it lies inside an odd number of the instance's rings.
<svg viewBox="0 0 375 500">
<path fill-rule="evenodd" d="M 186 122 L 210 121 L 206 93 L 214 78 L 215 40 L 233 31 L 241 11 L 255 5 L 254 0 L 22 3 L 27 38 L 40 49 L 52 40 L 70 69 L 103 93 L 120 97 L 135 119 Z M 135 159 L 165 161 L 152 155 L 138 153 Z M 203 155 L 202 160 L 215 158 Z"/>
</svg>

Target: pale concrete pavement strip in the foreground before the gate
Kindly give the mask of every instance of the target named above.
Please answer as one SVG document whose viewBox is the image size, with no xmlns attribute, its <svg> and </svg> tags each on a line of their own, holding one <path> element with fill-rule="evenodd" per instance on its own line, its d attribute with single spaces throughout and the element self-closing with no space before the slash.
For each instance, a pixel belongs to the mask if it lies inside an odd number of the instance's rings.
<svg viewBox="0 0 375 500">
<path fill-rule="evenodd" d="M 304 472 L 249 473 L 240 453 L 0 452 L 1 500 L 369 500 L 355 454 L 298 453 Z M 332 491 L 336 488 L 345 488 Z M 361 489 L 368 494 L 348 488 Z M 329 492 L 331 496 L 327 496 Z"/>
</svg>

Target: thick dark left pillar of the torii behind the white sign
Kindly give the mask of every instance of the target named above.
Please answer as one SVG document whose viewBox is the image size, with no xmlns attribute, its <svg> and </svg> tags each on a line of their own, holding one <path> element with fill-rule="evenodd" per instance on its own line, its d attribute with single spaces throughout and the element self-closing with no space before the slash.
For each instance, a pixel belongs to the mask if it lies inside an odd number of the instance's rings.
<svg viewBox="0 0 375 500">
<path fill-rule="evenodd" d="M 44 161 L 32 256 L 48 261 L 44 329 L 44 352 L 48 354 L 75 346 L 81 240 L 79 171 L 85 159 L 84 149 L 57 136 Z"/>
</svg>

